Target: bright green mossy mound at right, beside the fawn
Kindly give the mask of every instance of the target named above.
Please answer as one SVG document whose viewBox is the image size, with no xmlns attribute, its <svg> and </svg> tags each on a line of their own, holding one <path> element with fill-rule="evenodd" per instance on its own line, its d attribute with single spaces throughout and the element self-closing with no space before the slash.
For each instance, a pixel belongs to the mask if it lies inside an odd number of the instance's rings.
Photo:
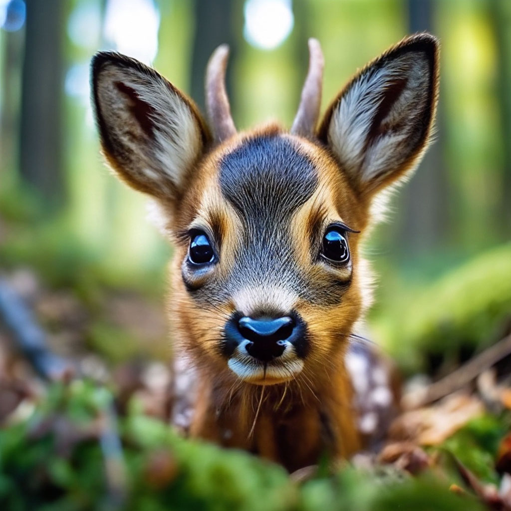
<svg viewBox="0 0 511 511">
<path fill-rule="evenodd" d="M 424 370 L 426 354 L 456 361 L 463 347 L 481 349 L 504 334 L 511 318 L 510 276 L 511 244 L 489 250 L 383 309 L 377 336 L 408 371 Z"/>
</svg>

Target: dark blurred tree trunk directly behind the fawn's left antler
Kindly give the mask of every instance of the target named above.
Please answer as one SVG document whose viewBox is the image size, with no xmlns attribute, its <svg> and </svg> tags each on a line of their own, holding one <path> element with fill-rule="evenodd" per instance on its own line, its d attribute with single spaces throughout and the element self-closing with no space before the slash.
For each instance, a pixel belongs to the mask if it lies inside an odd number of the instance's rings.
<svg viewBox="0 0 511 511">
<path fill-rule="evenodd" d="M 233 70 L 238 40 L 233 27 L 235 0 L 195 0 L 195 37 L 192 57 L 191 96 L 205 115 L 204 76 L 207 61 L 213 51 L 222 43 L 230 48 L 226 72 L 227 94 L 231 105 L 234 103 Z M 240 3 L 238 2 L 238 7 Z M 238 22 L 238 20 L 237 20 Z M 242 20 L 239 20 L 241 26 Z"/>
</svg>

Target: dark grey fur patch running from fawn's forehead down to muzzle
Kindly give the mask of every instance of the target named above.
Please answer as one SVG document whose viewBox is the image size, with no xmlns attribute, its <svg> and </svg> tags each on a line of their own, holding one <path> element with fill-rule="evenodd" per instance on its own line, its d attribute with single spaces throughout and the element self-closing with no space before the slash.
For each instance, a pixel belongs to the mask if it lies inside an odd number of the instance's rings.
<svg viewBox="0 0 511 511">
<path fill-rule="evenodd" d="M 245 224 L 243 245 L 225 287 L 234 292 L 285 285 L 297 295 L 306 294 L 290 231 L 294 212 L 318 186 L 312 161 L 282 135 L 254 136 L 223 157 L 219 180 L 222 195 Z"/>
</svg>

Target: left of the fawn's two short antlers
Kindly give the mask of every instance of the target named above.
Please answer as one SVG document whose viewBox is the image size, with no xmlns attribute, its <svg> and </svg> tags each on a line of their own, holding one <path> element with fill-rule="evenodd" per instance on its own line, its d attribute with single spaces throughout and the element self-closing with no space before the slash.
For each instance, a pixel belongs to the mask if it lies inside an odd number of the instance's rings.
<svg viewBox="0 0 511 511">
<path fill-rule="evenodd" d="M 229 47 L 221 44 L 213 52 L 206 68 L 206 110 L 217 143 L 236 134 L 225 90 L 228 57 Z"/>
</svg>

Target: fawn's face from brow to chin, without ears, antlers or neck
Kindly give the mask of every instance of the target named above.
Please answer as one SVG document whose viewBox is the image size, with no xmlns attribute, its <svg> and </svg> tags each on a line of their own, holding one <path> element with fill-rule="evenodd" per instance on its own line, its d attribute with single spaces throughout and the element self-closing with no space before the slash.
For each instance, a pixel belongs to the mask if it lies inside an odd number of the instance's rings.
<svg viewBox="0 0 511 511">
<path fill-rule="evenodd" d="M 176 222 L 182 330 L 252 382 L 324 360 L 360 314 L 365 224 L 333 158 L 269 128 L 236 137 L 196 176 Z"/>
</svg>

